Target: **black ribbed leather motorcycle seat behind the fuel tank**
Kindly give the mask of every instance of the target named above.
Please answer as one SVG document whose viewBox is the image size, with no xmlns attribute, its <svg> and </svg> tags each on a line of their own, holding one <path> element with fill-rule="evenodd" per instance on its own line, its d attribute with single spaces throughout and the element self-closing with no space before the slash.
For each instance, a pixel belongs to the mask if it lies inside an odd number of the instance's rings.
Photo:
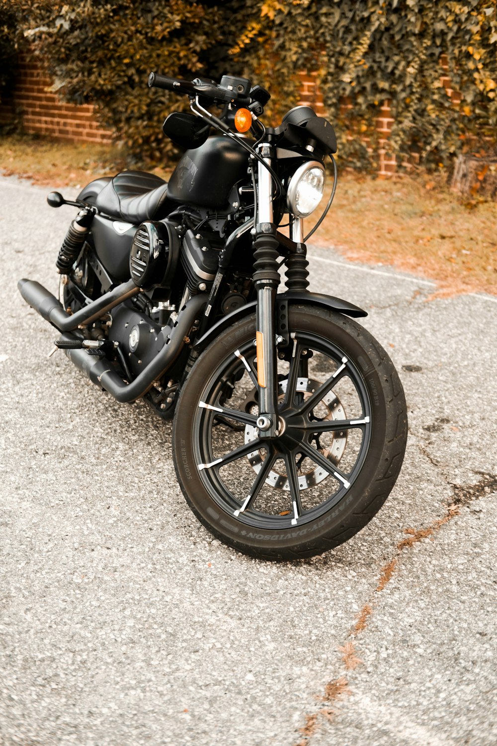
<svg viewBox="0 0 497 746">
<path fill-rule="evenodd" d="M 104 184 L 95 198 L 101 213 L 138 225 L 169 212 L 168 184 L 145 171 L 122 171 Z"/>
</svg>

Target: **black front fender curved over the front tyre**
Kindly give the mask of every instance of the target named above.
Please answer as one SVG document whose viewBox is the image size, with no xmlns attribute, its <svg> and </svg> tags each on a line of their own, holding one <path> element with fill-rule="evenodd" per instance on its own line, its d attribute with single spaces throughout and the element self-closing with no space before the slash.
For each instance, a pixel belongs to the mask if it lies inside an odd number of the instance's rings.
<svg viewBox="0 0 497 746">
<path fill-rule="evenodd" d="M 292 306 L 304 303 L 306 305 L 327 308 L 338 313 L 344 313 L 346 316 L 352 316 L 355 319 L 358 319 L 360 316 L 367 316 L 367 311 L 362 310 L 362 308 L 348 301 L 342 301 L 341 298 L 334 298 L 332 295 L 322 295 L 319 292 L 289 290 L 288 292 L 277 295 L 276 301 L 288 301 L 288 304 Z M 223 316 L 200 339 L 197 339 L 193 345 L 194 351 L 200 354 L 221 332 L 232 326 L 235 322 L 238 322 L 238 319 L 243 319 L 244 316 L 249 316 L 250 313 L 253 313 L 256 310 L 256 305 L 257 301 L 252 301 L 237 308 L 232 313 L 228 313 L 227 316 Z"/>
</svg>

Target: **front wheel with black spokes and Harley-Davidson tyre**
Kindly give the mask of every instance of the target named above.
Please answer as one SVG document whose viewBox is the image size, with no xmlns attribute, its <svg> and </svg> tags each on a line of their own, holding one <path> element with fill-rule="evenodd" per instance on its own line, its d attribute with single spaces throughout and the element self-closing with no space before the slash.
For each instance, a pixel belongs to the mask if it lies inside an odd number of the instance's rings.
<svg viewBox="0 0 497 746">
<path fill-rule="evenodd" d="M 268 560 L 321 554 L 361 530 L 402 464 L 402 384 L 352 319 L 289 311 L 278 348 L 279 436 L 256 427 L 255 316 L 218 336 L 177 404 L 174 466 L 197 518 L 226 544 Z"/>
</svg>

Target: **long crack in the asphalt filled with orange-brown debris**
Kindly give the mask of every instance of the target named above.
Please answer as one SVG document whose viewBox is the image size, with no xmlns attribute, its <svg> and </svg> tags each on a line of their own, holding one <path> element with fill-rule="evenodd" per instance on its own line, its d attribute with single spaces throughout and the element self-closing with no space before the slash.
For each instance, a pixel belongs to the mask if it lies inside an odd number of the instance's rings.
<svg viewBox="0 0 497 746">
<path fill-rule="evenodd" d="M 425 449 L 422 448 L 422 446 L 420 446 L 420 451 L 440 470 L 444 480 L 452 488 L 452 501 L 449 504 L 443 505 L 446 511 L 445 515 L 432 521 L 427 527 L 418 529 L 415 529 L 414 527 L 406 527 L 404 529 L 406 536 L 396 545 L 396 553 L 390 562 L 383 565 L 380 570 L 376 588 L 370 596 L 369 601 L 364 604 L 361 611 L 356 616 L 355 624 L 349 631 L 348 637 L 350 639 L 346 640 L 344 645 L 338 648 L 338 650 L 342 652 L 342 660 L 346 670 L 357 668 L 358 665 L 361 665 L 362 663 L 361 659 L 355 655 L 353 640 L 355 640 L 357 636 L 367 628 L 370 618 L 374 613 L 377 594 L 381 593 L 387 584 L 390 583 L 405 549 L 410 549 L 414 544 L 421 542 L 423 539 L 433 537 L 444 525 L 449 523 L 455 515 L 460 515 L 461 507 L 497 492 L 497 474 L 490 474 L 485 471 L 475 471 L 474 473 L 479 474 L 481 477 L 477 483 L 463 485 L 452 483 L 449 482 L 445 474 L 443 474 L 443 468 L 425 452 Z M 318 709 L 317 712 L 311 712 L 308 715 L 304 715 L 306 718 L 305 723 L 303 727 L 300 727 L 299 729 L 300 733 L 302 733 L 303 739 L 294 744 L 294 746 L 309 746 L 311 738 L 317 732 L 318 728 L 326 721 L 331 722 L 335 716 L 338 715 L 339 707 L 336 705 L 343 700 L 345 695 L 350 694 L 352 694 L 352 691 L 349 688 L 349 682 L 346 679 L 345 674 L 338 679 L 327 683 L 324 689 L 324 694 L 321 696 L 317 695 L 316 698 L 321 702 L 326 702 L 328 706 L 326 708 Z M 333 705 L 335 705 L 335 707 Z"/>
</svg>

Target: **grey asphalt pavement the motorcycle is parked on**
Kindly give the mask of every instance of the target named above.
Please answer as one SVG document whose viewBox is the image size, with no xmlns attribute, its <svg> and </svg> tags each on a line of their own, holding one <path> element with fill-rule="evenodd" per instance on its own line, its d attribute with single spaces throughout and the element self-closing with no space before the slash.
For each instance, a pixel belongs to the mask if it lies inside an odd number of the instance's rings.
<svg viewBox="0 0 497 746">
<path fill-rule="evenodd" d="M 311 250 L 311 289 L 368 310 L 410 436 L 361 533 L 267 564 L 197 523 L 170 424 L 47 360 L 16 289 L 57 287 L 72 209 L 46 192 L 0 179 L 0 744 L 494 745 L 496 298 Z"/>
</svg>

